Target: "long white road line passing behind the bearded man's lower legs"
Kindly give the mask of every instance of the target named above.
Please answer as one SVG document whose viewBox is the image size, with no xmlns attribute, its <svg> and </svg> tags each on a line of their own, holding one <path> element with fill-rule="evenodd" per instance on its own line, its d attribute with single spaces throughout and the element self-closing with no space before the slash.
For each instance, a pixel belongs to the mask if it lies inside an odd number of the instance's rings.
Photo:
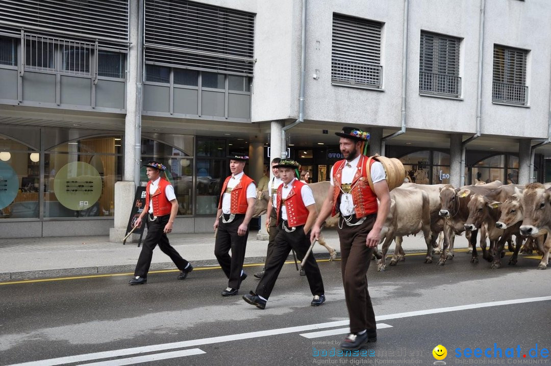
<svg viewBox="0 0 551 366">
<path fill-rule="evenodd" d="M 505 301 L 494 301 L 494 302 L 488 302 L 488 303 L 468 304 L 468 305 L 460 305 L 460 306 L 447 307 L 447 308 L 425 309 L 425 310 L 418 310 L 416 312 L 380 315 L 380 316 L 375 316 L 375 320 L 380 321 L 380 320 L 388 320 L 388 319 L 400 319 L 400 318 L 408 318 L 410 316 L 441 314 L 441 313 L 457 312 L 460 310 L 488 308 L 488 307 L 496 307 L 501 305 L 522 304 L 522 303 L 531 303 L 531 302 L 549 301 L 549 300 L 551 300 L 551 296 L 531 297 L 531 298 L 525 298 L 525 299 L 514 299 L 514 300 L 505 300 Z M 65 363 L 83 362 L 83 361 L 100 359 L 100 358 L 120 357 L 120 356 L 126 356 L 127 354 L 165 351 L 166 349 L 211 345 L 213 343 L 238 341 L 238 340 L 258 338 L 258 337 L 268 337 L 268 336 L 274 336 L 279 334 L 309 331 L 314 329 L 325 329 L 325 328 L 332 328 L 332 327 L 343 326 L 348 324 L 349 324 L 349 320 L 331 321 L 328 323 L 292 326 L 288 328 L 262 330 L 262 331 L 256 331 L 256 332 L 232 334 L 228 336 L 219 336 L 219 337 L 201 338 L 201 339 L 190 340 L 190 341 L 163 343 L 160 345 L 153 345 L 153 346 L 132 347 L 132 348 L 115 349 L 113 351 L 85 353 L 85 354 L 78 354 L 76 356 L 50 358 L 50 359 L 39 360 L 39 361 L 18 363 L 18 364 L 13 364 L 8 366 L 53 366 L 53 365 L 61 365 Z"/>
</svg>

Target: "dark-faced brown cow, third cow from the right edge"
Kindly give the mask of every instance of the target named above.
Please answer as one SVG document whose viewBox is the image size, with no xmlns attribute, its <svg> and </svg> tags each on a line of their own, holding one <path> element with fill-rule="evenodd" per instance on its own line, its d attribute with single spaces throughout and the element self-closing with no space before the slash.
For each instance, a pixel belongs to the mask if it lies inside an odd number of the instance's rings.
<svg viewBox="0 0 551 366">
<path fill-rule="evenodd" d="M 491 269 L 501 267 L 501 258 L 505 254 L 503 248 L 513 234 L 516 236 L 517 245 L 509 264 L 516 264 L 517 262 L 518 250 L 520 250 L 522 244 L 519 232 L 520 223 L 510 226 L 505 230 L 496 226 L 496 222 L 499 221 L 499 217 L 501 216 L 501 202 L 513 195 L 515 188 L 523 189 L 524 187 L 517 184 L 507 184 L 491 190 L 485 196 L 473 194 L 467 205 L 469 217 L 464 224 L 465 230 L 473 231 L 481 227 L 486 228 L 486 233 L 490 240 L 490 250 L 486 250 L 485 236 L 481 236 L 480 248 L 482 249 L 483 258 L 489 262 L 493 261 Z M 468 189 L 466 191 L 468 192 Z"/>
</svg>

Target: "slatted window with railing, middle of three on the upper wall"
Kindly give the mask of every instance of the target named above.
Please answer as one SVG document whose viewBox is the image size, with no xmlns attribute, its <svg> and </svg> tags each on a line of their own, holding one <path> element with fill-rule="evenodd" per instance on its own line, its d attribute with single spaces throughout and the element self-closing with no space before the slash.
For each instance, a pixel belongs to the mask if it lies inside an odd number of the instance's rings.
<svg viewBox="0 0 551 366">
<path fill-rule="evenodd" d="M 460 39 L 422 31 L 419 48 L 419 92 L 459 97 Z"/>
</svg>

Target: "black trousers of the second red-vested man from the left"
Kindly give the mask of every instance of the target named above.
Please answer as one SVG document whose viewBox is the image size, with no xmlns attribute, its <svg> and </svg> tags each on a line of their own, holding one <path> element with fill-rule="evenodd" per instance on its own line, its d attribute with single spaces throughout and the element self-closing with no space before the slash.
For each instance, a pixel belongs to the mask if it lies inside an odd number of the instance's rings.
<svg viewBox="0 0 551 366">
<path fill-rule="evenodd" d="M 245 260 L 245 249 L 249 230 L 244 236 L 237 235 L 237 228 L 245 219 L 244 214 L 236 214 L 233 221 L 224 223 L 220 218 L 218 233 L 214 243 L 214 255 L 228 277 L 228 287 L 239 288 L 241 285 L 241 270 Z M 229 255 L 231 249 L 231 256 Z"/>
</svg>

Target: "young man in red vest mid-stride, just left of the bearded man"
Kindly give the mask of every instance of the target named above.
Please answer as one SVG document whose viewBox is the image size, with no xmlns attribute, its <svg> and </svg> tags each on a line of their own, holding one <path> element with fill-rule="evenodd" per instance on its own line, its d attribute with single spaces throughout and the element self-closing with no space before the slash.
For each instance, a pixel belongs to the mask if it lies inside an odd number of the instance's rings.
<svg viewBox="0 0 551 366">
<path fill-rule="evenodd" d="M 264 276 L 256 287 L 256 292 L 249 292 L 243 299 L 257 308 L 266 308 L 266 302 L 276 284 L 287 256 L 294 249 L 299 258 L 304 258 L 310 247 L 310 228 L 316 220 L 316 201 L 312 189 L 300 182 L 295 170 L 299 163 L 293 160 L 282 160 L 277 165 L 279 178 L 283 184 L 277 189 L 277 225 L 278 234 L 274 241 L 271 255 L 269 255 Z M 325 290 L 321 278 L 320 268 L 317 266 L 314 254 L 306 259 L 306 278 L 314 299 L 312 306 L 320 306 L 325 302 Z"/>
</svg>

